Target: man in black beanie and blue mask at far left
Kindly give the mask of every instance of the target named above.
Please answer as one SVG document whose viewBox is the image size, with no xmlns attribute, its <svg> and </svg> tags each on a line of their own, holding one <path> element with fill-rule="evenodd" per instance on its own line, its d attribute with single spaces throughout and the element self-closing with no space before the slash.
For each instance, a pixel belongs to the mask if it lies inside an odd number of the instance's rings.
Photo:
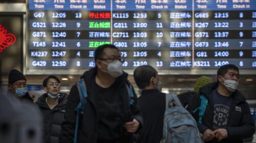
<svg viewBox="0 0 256 143">
<path fill-rule="evenodd" d="M 27 79 L 23 73 L 18 70 L 12 69 L 9 72 L 8 87 L 8 94 L 12 94 L 20 100 L 29 100 L 33 102 L 33 99 L 27 92 Z"/>
</svg>

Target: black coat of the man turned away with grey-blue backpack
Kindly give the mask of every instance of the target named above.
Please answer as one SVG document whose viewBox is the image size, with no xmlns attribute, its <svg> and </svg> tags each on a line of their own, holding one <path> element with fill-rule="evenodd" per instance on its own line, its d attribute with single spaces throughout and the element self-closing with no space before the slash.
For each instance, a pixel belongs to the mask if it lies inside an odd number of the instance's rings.
<svg viewBox="0 0 256 143">
<path fill-rule="evenodd" d="M 141 142 L 160 142 L 163 135 L 165 97 L 165 93 L 161 93 L 157 89 L 141 92 L 141 96 L 138 98 L 144 125 L 139 132 Z"/>
</svg>

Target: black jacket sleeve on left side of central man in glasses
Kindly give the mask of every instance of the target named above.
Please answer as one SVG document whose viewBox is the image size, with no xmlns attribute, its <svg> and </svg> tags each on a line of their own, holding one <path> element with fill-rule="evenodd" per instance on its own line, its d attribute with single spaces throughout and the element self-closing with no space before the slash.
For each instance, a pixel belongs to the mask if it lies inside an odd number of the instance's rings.
<svg viewBox="0 0 256 143">
<path fill-rule="evenodd" d="M 59 138 L 59 143 L 73 143 L 77 113 L 74 109 L 79 102 L 79 93 L 76 86 L 74 85 L 71 88 L 65 108 L 65 121 L 61 125 L 62 132 Z"/>
</svg>

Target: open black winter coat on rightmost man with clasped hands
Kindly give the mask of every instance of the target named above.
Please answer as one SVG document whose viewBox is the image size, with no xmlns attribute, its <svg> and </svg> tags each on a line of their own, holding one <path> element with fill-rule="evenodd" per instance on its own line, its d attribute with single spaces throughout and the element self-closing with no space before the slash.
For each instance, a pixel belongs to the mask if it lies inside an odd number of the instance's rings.
<svg viewBox="0 0 256 143">
<path fill-rule="evenodd" d="M 200 106 L 200 95 L 204 95 L 208 99 L 208 105 L 206 106 L 204 116 L 202 118 L 203 124 L 198 122 L 198 128 L 201 133 L 206 129 L 214 130 L 213 128 L 213 118 L 214 118 L 214 105 L 213 105 L 213 95 L 212 90 L 217 89 L 218 82 L 212 82 L 206 84 L 204 87 L 200 88 L 199 94 L 195 95 L 191 101 L 188 103 L 188 110 L 193 115 L 193 117 L 198 121 L 198 112 L 193 113 L 197 107 Z M 252 119 L 248 103 L 245 101 L 245 97 L 238 91 L 232 94 L 233 102 L 230 107 L 228 124 L 226 130 L 228 132 L 228 137 L 220 141 L 221 143 L 242 143 L 243 139 L 251 137 L 254 133 L 254 120 Z M 241 110 L 236 110 L 236 107 Z M 216 138 L 211 141 L 218 142 Z"/>
</svg>

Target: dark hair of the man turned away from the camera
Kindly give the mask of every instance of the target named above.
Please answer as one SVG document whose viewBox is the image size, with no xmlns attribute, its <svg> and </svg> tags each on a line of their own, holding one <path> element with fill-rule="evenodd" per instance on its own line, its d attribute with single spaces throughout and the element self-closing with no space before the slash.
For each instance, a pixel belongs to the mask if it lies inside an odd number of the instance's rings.
<svg viewBox="0 0 256 143">
<path fill-rule="evenodd" d="M 152 66 L 144 65 L 137 67 L 133 72 L 134 80 L 140 89 L 150 85 L 150 79 L 156 77 L 157 71 Z"/>
</svg>

